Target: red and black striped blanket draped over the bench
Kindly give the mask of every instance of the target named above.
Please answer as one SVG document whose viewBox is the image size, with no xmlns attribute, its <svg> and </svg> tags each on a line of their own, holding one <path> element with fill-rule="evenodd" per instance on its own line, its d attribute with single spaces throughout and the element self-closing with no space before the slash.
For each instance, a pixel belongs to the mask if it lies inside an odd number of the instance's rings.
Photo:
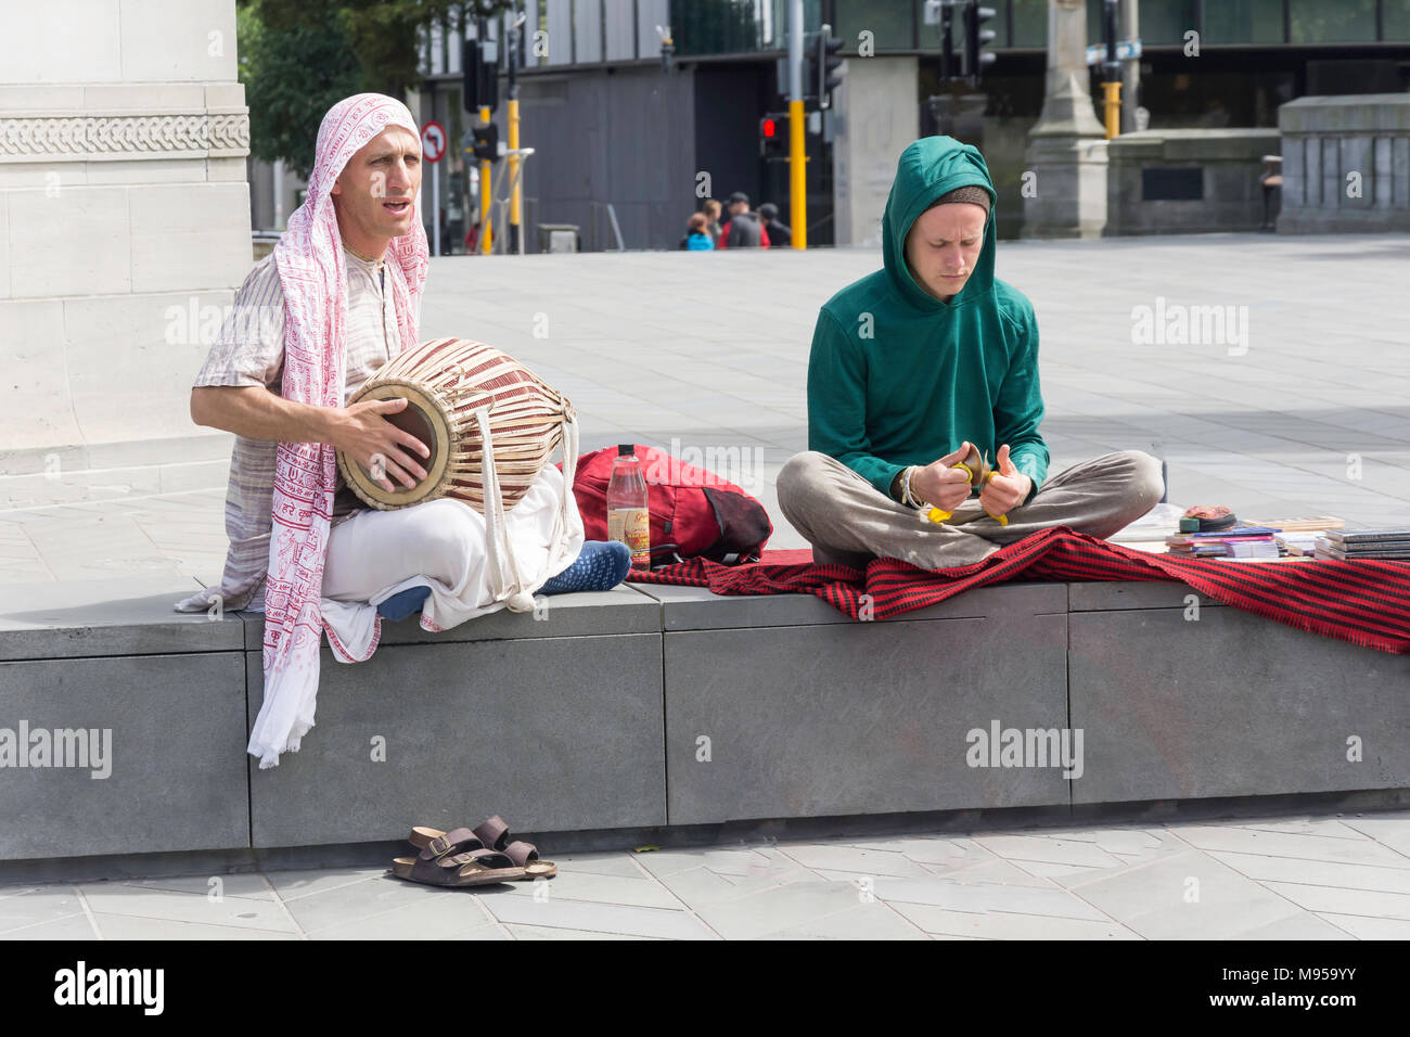
<svg viewBox="0 0 1410 1037">
<path fill-rule="evenodd" d="M 925 608 L 971 587 L 1017 576 L 1029 580 L 1177 580 L 1214 601 L 1266 619 L 1349 641 L 1410 652 L 1410 562 L 1256 563 L 1179 559 L 1122 547 L 1067 526 L 1053 526 L 1003 547 L 973 566 L 931 571 L 897 559 L 874 559 L 866 571 L 815 566 L 808 550 L 766 552 L 763 562 L 722 566 L 691 559 L 634 583 L 708 587 L 715 594 L 814 594 L 857 618 L 877 619 Z M 863 601 L 863 595 L 869 595 Z"/>
</svg>

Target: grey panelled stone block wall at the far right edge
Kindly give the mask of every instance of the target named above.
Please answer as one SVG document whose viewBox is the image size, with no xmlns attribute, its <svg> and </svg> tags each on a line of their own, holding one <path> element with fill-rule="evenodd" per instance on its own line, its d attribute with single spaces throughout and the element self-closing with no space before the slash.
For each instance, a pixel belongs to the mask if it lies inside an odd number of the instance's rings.
<svg viewBox="0 0 1410 1037">
<path fill-rule="evenodd" d="M 1410 95 L 1299 97 L 1277 128 L 1279 233 L 1410 230 Z"/>
</svg>

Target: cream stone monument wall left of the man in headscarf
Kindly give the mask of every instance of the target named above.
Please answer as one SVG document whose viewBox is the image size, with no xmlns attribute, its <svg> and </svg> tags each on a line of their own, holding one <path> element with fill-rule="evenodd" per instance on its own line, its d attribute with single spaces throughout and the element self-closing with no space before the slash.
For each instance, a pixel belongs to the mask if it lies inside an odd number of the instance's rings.
<svg viewBox="0 0 1410 1037">
<path fill-rule="evenodd" d="M 234 0 L 7 16 L 0 483 L 197 435 L 188 399 L 212 329 L 172 315 L 228 305 L 251 267 L 235 55 Z"/>
</svg>

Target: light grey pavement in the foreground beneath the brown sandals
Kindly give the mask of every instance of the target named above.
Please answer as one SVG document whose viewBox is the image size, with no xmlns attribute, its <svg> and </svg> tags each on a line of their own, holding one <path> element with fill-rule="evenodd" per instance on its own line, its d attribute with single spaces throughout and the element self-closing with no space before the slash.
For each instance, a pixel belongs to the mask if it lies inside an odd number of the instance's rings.
<svg viewBox="0 0 1410 1037">
<path fill-rule="evenodd" d="M 551 847 L 541 847 L 551 855 Z M 1410 811 L 0 885 L 0 940 L 1406 940 Z"/>
</svg>

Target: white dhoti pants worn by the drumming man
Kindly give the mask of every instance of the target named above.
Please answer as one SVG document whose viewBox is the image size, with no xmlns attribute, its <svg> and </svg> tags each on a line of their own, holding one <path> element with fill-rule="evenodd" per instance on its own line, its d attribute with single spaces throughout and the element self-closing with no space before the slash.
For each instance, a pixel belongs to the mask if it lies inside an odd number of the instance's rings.
<svg viewBox="0 0 1410 1037">
<path fill-rule="evenodd" d="M 430 587 L 420 617 L 427 631 L 496 612 L 515 591 L 537 591 L 582 550 L 582 518 L 571 492 L 565 535 L 554 535 L 564 492 L 563 473 L 547 466 L 505 515 L 517 586 L 505 557 L 496 578 L 485 518 L 461 501 L 367 509 L 340 522 L 329 533 L 320 601 L 333 655 L 344 663 L 369 659 L 381 636 L 376 607 L 412 587 Z"/>
</svg>

